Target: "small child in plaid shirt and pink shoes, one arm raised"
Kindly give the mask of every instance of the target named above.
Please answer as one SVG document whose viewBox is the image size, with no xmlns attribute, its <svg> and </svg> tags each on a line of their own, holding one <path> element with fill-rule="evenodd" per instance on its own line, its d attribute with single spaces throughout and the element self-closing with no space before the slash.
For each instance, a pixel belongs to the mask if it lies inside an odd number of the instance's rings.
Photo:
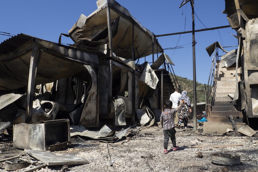
<svg viewBox="0 0 258 172">
<path fill-rule="evenodd" d="M 175 124 L 174 124 L 174 115 L 175 113 L 181 108 L 182 104 L 184 103 L 184 100 L 182 100 L 179 104 L 179 106 L 176 109 L 172 109 L 172 101 L 167 100 L 165 102 L 165 110 L 162 112 L 160 116 L 160 123 L 163 127 L 163 134 L 164 134 L 164 153 L 168 153 L 167 145 L 169 138 L 172 141 L 173 144 L 173 150 L 178 150 L 179 146 L 176 144 L 175 139 Z"/>
</svg>

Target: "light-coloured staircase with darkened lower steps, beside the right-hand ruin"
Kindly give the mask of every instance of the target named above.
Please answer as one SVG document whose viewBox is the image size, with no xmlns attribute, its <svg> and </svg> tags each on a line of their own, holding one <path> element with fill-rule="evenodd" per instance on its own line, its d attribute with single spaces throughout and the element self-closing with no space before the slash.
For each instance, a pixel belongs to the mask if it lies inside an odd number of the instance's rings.
<svg viewBox="0 0 258 172">
<path fill-rule="evenodd" d="M 217 60 L 215 77 L 212 86 L 212 101 L 210 102 L 207 122 L 204 122 L 204 133 L 226 132 L 227 128 L 232 128 L 232 124 L 227 116 L 232 115 L 236 123 L 243 122 L 242 112 L 236 110 L 235 101 L 228 95 L 234 95 L 236 89 L 235 67 L 221 67 L 221 60 Z M 238 79 L 240 81 L 240 68 L 238 69 Z M 239 125 L 241 125 L 239 124 Z"/>
</svg>

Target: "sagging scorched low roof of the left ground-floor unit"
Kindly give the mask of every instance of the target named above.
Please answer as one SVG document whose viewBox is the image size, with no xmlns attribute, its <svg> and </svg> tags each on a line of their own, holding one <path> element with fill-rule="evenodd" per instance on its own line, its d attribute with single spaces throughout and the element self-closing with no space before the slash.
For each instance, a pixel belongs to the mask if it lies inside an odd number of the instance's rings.
<svg viewBox="0 0 258 172">
<path fill-rule="evenodd" d="M 24 43 L 19 44 L 21 40 L 24 40 Z M 6 52 L 6 45 L 12 46 L 12 49 Z M 28 85 L 30 59 L 34 46 L 41 52 L 35 84 L 68 78 L 85 71 L 83 64 L 97 67 L 99 63 L 96 54 L 19 34 L 0 44 L 0 52 L 5 51 L 0 53 L 0 90 L 19 89 Z"/>
</svg>

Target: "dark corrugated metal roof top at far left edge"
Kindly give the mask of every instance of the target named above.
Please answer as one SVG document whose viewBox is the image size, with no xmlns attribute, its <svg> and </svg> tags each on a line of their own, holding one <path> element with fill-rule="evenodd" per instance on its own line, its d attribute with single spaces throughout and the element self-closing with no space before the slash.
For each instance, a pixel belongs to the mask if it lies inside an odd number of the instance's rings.
<svg viewBox="0 0 258 172">
<path fill-rule="evenodd" d="M 29 36 L 26 34 L 18 34 L 16 36 L 13 36 L 12 38 L 9 38 L 7 40 L 5 40 L 4 42 L 2 42 L 0 44 L 0 54 L 1 53 L 7 53 L 9 51 L 14 50 L 15 48 L 17 48 L 18 46 L 20 46 L 21 44 L 24 44 L 25 42 L 27 42 L 30 39 L 39 39 L 33 36 Z"/>
</svg>

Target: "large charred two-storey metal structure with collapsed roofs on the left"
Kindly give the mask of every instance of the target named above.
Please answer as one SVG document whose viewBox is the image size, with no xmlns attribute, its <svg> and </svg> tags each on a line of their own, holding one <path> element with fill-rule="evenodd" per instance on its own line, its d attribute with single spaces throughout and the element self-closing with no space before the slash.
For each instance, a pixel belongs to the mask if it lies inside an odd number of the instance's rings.
<svg viewBox="0 0 258 172">
<path fill-rule="evenodd" d="M 159 120 L 163 100 L 174 91 L 163 67 L 173 62 L 116 1 L 98 0 L 97 7 L 60 34 L 59 43 L 19 34 L 0 44 L 1 129 L 57 119 L 85 127 L 106 119 L 116 126 Z M 75 43 L 61 44 L 62 36 Z M 159 53 L 151 65 L 135 63 Z M 145 113 L 136 114 L 140 110 Z"/>
</svg>

